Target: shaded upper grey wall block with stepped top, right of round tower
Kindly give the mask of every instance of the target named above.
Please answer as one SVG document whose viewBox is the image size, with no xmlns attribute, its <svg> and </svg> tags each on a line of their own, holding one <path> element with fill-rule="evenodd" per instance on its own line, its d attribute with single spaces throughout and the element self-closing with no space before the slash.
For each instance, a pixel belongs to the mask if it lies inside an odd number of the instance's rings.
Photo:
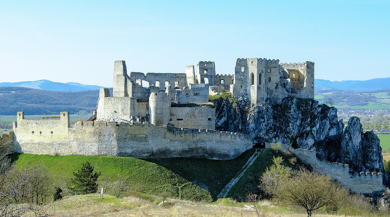
<svg viewBox="0 0 390 217">
<path fill-rule="evenodd" d="M 208 84 L 190 84 L 190 88 L 176 90 L 175 103 L 208 103 L 209 85 Z"/>
</svg>

